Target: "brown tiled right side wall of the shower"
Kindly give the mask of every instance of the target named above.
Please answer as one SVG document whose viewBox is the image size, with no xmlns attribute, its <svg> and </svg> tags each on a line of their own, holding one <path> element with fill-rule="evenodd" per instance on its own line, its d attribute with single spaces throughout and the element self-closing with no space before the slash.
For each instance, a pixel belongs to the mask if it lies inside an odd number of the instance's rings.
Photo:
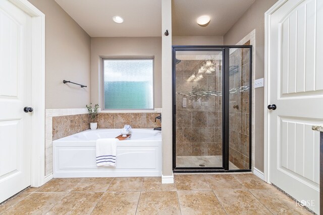
<svg viewBox="0 0 323 215">
<path fill-rule="evenodd" d="M 249 169 L 249 56 L 248 48 L 230 54 L 229 160 L 239 169 Z"/>
</svg>

